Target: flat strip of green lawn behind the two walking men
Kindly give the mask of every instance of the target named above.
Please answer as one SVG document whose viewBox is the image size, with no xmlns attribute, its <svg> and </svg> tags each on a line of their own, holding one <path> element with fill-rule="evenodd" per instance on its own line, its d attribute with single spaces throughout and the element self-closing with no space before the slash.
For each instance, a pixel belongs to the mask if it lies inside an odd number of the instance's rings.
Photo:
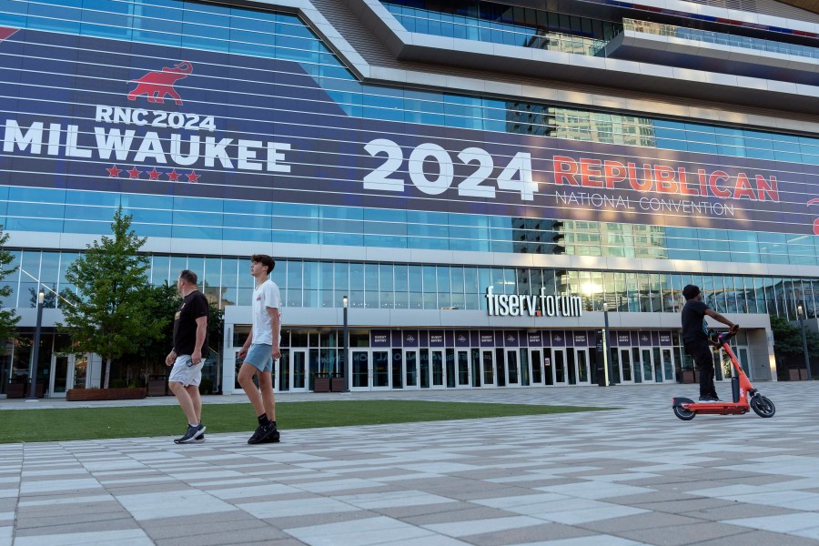
<svg viewBox="0 0 819 546">
<path fill-rule="evenodd" d="M 380 425 L 432 420 L 480 419 L 606 410 L 417 400 L 282 402 L 276 405 L 281 430 Z M 249 403 L 208 404 L 202 410 L 208 433 L 250 433 L 256 416 Z M 177 406 L 0 410 L 0 443 L 180 436 L 187 422 Z"/>
</svg>

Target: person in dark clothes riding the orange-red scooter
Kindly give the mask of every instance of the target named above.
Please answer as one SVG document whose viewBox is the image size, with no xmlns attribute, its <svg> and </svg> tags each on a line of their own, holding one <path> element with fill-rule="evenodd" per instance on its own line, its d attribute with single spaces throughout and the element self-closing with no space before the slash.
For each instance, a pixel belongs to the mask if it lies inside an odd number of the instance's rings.
<svg viewBox="0 0 819 546">
<path fill-rule="evenodd" d="M 709 347 L 713 342 L 708 338 L 705 315 L 722 322 L 732 332 L 738 330 L 739 325 L 705 305 L 699 287 L 688 285 L 682 288 L 682 296 L 685 298 L 685 307 L 682 308 L 682 343 L 700 372 L 700 401 L 719 402 L 721 400 L 713 386 L 713 352 Z"/>
</svg>

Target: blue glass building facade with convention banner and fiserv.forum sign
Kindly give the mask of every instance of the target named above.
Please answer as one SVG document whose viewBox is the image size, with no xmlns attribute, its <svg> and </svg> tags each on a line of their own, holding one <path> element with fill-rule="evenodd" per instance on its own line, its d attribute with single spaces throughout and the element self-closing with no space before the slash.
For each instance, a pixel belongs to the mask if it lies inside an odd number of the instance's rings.
<svg viewBox="0 0 819 546">
<path fill-rule="evenodd" d="M 817 37 L 773 0 L 0 0 L 0 395 L 120 206 L 152 283 L 192 269 L 224 308 L 225 394 L 254 253 L 279 391 L 693 381 L 689 283 L 775 380 L 770 316 L 819 305 Z M 50 396 L 100 377 L 60 308 Z"/>
</svg>

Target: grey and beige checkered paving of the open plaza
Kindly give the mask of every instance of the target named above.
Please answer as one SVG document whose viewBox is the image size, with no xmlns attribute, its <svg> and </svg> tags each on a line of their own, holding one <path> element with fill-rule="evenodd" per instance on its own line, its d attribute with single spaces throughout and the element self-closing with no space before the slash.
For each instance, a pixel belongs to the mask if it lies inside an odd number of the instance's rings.
<svg viewBox="0 0 819 546">
<path fill-rule="evenodd" d="M 282 411 L 279 444 L 4 444 L 0 545 L 815 545 L 819 384 L 756 387 L 772 419 L 678 420 L 672 396 L 693 385 L 282 394 L 621 409 L 312 430 Z M 208 398 L 206 424 L 238 401 Z M 0 426 L 24 407 L 76 404 L 0 400 Z"/>
</svg>

